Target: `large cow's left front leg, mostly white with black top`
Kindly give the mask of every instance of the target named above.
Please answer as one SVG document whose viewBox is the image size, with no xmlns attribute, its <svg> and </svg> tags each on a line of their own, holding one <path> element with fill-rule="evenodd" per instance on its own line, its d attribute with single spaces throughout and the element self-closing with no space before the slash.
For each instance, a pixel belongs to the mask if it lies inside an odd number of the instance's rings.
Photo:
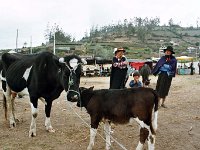
<svg viewBox="0 0 200 150">
<path fill-rule="evenodd" d="M 38 115 L 38 100 L 37 99 L 31 99 L 31 113 L 32 113 L 32 120 L 31 120 L 31 125 L 30 125 L 30 130 L 29 130 L 29 137 L 34 137 L 36 136 L 36 118 Z"/>
</svg>

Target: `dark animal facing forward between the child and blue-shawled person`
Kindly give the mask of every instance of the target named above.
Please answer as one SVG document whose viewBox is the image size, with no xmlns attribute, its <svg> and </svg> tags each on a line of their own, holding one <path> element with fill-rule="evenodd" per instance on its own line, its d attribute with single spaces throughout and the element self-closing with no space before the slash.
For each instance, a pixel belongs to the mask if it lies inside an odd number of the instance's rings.
<svg viewBox="0 0 200 150">
<path fill-rule="evenodd" d="M 150 84 L 149 75 L 151 74 L 151 68 L 149 65 L 144 64 L 140 69 L 140 74 L 142 76 L 142 83 L 144 87 L 148 87 Z"/>
</svg>

